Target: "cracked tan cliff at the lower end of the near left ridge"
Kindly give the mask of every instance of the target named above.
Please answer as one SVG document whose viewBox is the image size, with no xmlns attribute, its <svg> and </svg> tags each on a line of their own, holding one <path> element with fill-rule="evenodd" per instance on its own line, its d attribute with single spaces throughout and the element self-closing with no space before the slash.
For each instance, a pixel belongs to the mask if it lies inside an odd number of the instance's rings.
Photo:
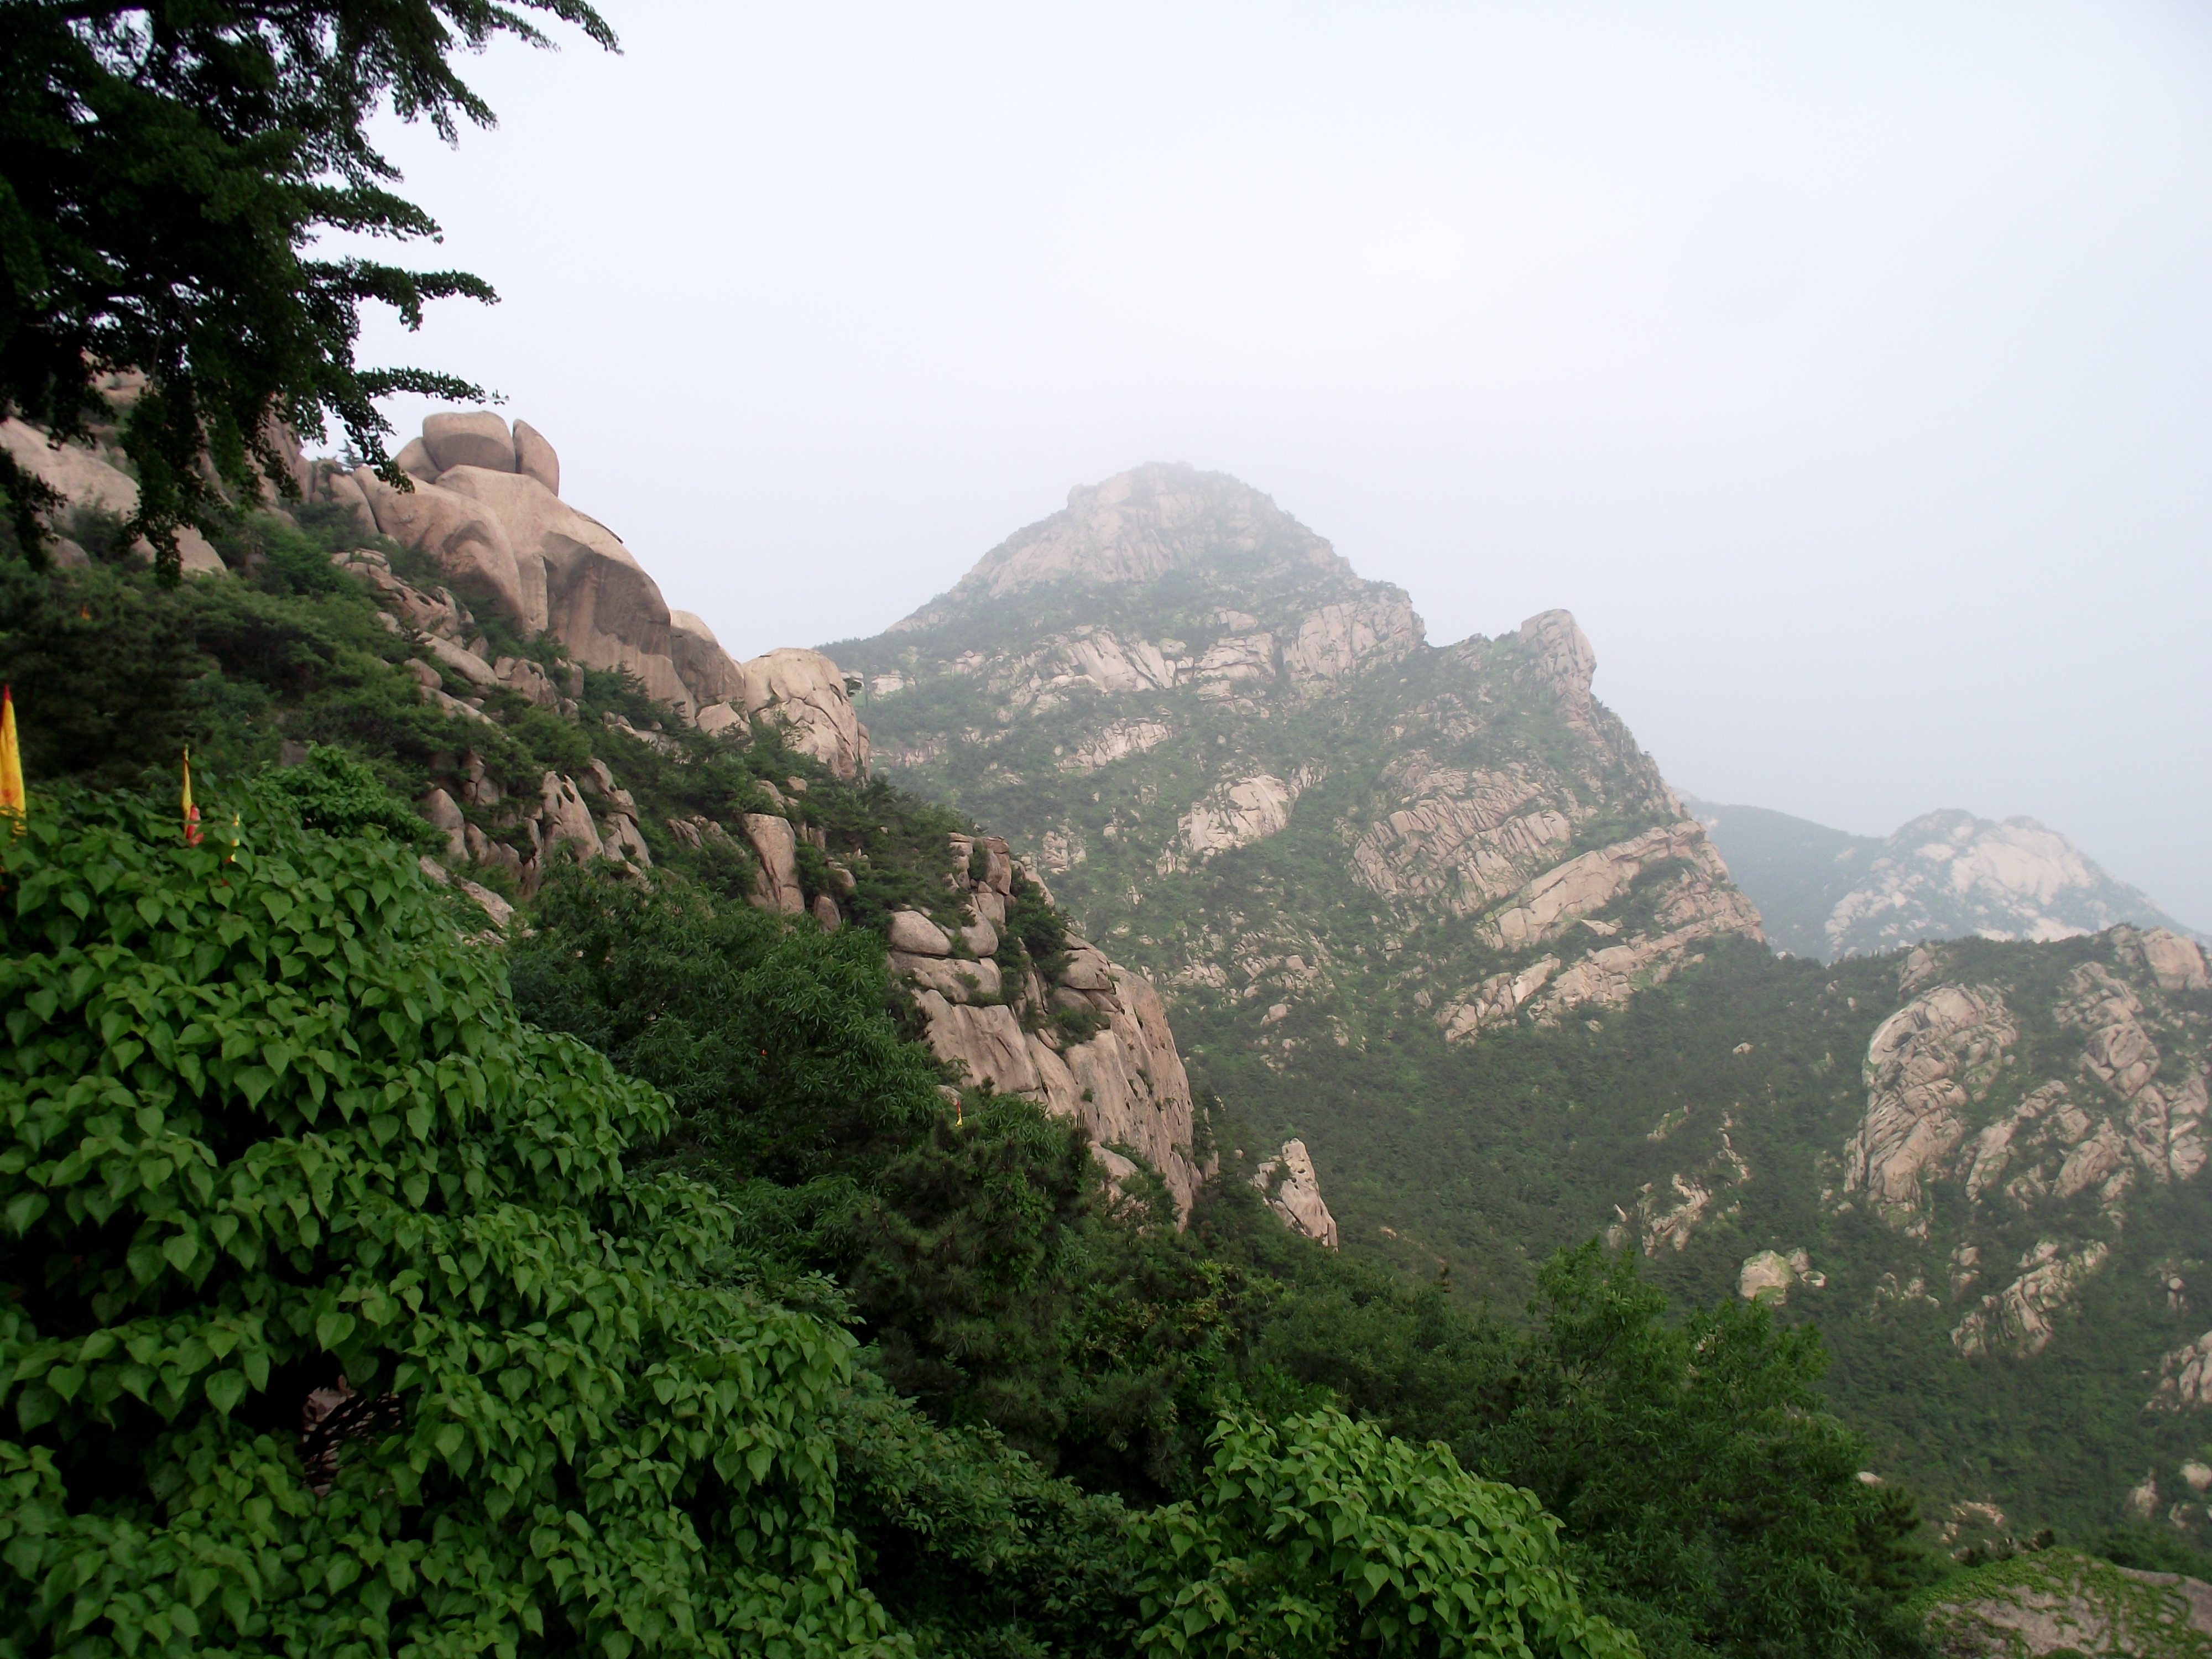
<svg viewBox="0 0 2212 1659">
<path fill-rule="evenodd" d="M 989 836 L 984 874 L 969 874 L 975 841 L 953 836 L 947 858 L 951 902 L 964 914 L 960 951 L 998 945 L 991 914 L 1004 918 L 1015 863 L 1004 841 Z M 978 931 L 982 929 L 982 931 Z M 956 953 L 953 933 L 918 911 L 891 918 L 891 971 L 914 987 L 929 1020 L 929 1046 L 969 1082 L 1004 1095 L 1044 1102 L 1055 1117 L 1082 1121 L 1108 1175 L 1139 1159 L 1166 1181 L 1177 1221 L 1210 1168 L 1192 1159 L 1194 1108 L 1183 1057 L 1152 984 L 1082 940 L 1051 984 L 1004 980 L 1000 964 Z M 1048 1011 L 1093 1015 L 1093 1035 L 1068 1040 Z M 1117 1168 L 1119 1166 L 1119 1168 Z"/>
</svg>

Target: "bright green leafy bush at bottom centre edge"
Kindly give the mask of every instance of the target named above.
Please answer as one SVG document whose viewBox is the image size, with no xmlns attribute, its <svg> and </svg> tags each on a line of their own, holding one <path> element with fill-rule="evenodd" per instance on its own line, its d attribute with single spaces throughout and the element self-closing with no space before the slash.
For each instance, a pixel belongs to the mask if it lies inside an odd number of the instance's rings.
<svg viewBox="0 0 2212 1659">
<path fill-rule="evenodd" d="M 1199 1495 L 1139 1517 L 1144 1655 L 1601 1655 L 1557 1522 L 1340 1411 L 1225 1416 Z"/>
</svg>

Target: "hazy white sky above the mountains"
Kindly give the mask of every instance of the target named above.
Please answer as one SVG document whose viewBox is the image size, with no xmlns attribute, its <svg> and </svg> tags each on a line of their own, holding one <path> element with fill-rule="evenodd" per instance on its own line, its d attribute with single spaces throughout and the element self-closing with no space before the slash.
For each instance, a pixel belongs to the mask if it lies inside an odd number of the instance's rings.
<svg viewBox="0 0 2212 1659">
<path fill-rule="evenodd" d="M 2212 927 L 2212 11 L 684 4 L 403 131 L 495 385 L 737 655 L 1068 484 L 1568 606 L 1681 787 L 2033 814 Z M 394 405 L 411 429 L 418 407 Z"/>
</svg>

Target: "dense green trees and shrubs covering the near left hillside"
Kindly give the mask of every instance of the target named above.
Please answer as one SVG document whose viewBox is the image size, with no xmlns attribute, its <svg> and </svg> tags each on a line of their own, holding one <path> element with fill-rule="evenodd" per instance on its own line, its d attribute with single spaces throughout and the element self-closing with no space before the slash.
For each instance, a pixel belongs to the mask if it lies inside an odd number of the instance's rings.
<svg viewBox="0 0 2212 1659">
<path fill-rule="evenodd" d="M 310 571 L 9 591 L 11 664 L 88 664 L 100 595 L 179 639 L 314 626 L 343 668 L 188 657 L 159 748 L 75 752 L 144 785 L 71 794 L 33 750 L 0 843 L 9 1652 L 1911 1648 L 1911 1511 L 1763 1307 L 1677 1318 L 1586 1248 L 1484 1312 L 1239 1181 L 1177 1232 L 1037 1106 L 949 1099 L 865 918 L 754 909 L 741 854 L 555 869 L 478 942 L 394 812 L 438 728 L 420 761 L 347 739 L 425 706 Z M 560 726 L 495 737 L 668 812 L 803 776 L 887 894 L 942 847 L 940 810 L 768 732 Z M 234 860 L 175 834 L 186 734 Z M 336 741 L 272 763 L 305 734 Z M 1055 949 L 1029 902 L 1009 933 Z"/>
</svg>

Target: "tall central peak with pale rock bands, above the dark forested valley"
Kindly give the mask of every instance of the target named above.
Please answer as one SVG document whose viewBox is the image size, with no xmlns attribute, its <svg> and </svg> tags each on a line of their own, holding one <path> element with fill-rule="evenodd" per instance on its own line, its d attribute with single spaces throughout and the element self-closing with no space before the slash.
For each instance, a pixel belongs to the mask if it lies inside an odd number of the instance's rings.
<svg viewBox="0 0 2212 1659">
<path fill-rule="evenodd" d="M 1179 1015 L 1276 1064 L 1617 1006 L 1759 938 L 1571 615 L 1429 646 L 1405 593 L 1219 473 L 1075 489 L 832 650 L 891 776 L 1037 847 Z"/>
</svg>

